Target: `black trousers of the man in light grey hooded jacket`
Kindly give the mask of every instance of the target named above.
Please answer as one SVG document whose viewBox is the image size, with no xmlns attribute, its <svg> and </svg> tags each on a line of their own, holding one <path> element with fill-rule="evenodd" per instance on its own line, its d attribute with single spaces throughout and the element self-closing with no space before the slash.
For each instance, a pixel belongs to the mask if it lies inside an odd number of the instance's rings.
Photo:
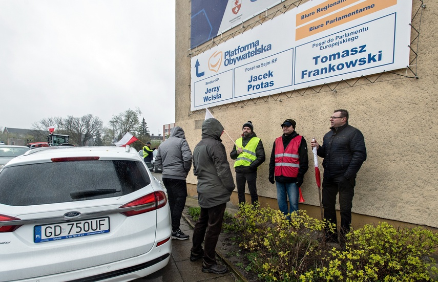
<svg viewBox="0 0 438 282">
<path fill-rule="evenodd" d="M 172 232 L 179 229 L 182 210 L 187 198 L 187 184 L 185 180 L 162 178 L 163 184 L 168 190 L 168 201 L 172 216 Z"/>
</svg>

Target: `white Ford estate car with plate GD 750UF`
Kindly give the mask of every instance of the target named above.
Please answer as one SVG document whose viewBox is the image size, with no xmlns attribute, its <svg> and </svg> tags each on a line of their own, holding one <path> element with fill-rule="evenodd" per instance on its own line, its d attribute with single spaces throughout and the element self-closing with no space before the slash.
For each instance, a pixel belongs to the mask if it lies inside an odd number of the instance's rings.
<svg viewBox="0 0 438 282">
<path fill-rule="evenodd" d="M 135 149 L 45 147 L 0 171 L 0 281 L 129 281 L 172 251 L 169 204 Z"/>
</svg>

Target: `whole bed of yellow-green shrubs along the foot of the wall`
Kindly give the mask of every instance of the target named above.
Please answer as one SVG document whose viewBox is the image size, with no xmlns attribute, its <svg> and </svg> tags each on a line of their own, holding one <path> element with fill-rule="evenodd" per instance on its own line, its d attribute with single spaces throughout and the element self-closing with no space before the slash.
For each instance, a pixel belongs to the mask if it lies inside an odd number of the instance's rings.
<svg viewBox="0 0 438 282">
<path fill-rule="evenodd" d="M 438 234 L 421 227 L 394 228 L 388 223 L 365 225 L 347 235 L 346 249 L 319 240 L 323 221 L 305 211 L 239 206 L 237 218 L 225 224 L 239 234 L 249 251 L 247 271 L 263 281 L 432 281 L 438 274 L 429 255 L 438 248 Z M 330 226 L 332 228 L 333 226 Z"/>
</svg>

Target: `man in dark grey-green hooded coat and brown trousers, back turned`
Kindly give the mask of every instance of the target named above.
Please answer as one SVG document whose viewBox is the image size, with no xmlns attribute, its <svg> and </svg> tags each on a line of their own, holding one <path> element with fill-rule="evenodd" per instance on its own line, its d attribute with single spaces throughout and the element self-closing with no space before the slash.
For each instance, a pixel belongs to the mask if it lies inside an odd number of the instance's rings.
<svg viewBox="0 0 438 282">
<path fill-rule="evenodd" d="M 202 272 L 222 274 L 228 268 L 216 263 L 215 249 L 222 229 L 226 203 L 234 185 L 230 163 L 220 136 L 222 124 L 214 118 L 202 123 L 202 139 L 193 150 L 193 173 L 198 177 L 199 220 L 193 231 L 192 262 L 203 258 Z M 208 228 L 207 228 L 208 227 Z M 204 239 L 205 237 L 205 239 Z M 202 249 L 204 242 L 204 250 Z"/>
</svg>

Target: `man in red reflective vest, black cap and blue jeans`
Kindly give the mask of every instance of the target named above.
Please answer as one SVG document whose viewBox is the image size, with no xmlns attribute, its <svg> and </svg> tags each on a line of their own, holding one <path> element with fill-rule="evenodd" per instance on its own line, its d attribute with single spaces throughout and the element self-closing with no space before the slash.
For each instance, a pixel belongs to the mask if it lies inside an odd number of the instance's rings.
<svg viewBox="0 0 438 282">
<path fill-rule="evenodd" d="M 307 143 L 295 131 L 296 125 L 293 119 L 286 119 L 281 124 L 283 135 L 275 140 L 269 162 L 269 182 L 274 184 L 277 181 L 278 207 L 287 218 L 289 213 L 298 210 L 298 188 L 309 168 Z"/>
</svg>

